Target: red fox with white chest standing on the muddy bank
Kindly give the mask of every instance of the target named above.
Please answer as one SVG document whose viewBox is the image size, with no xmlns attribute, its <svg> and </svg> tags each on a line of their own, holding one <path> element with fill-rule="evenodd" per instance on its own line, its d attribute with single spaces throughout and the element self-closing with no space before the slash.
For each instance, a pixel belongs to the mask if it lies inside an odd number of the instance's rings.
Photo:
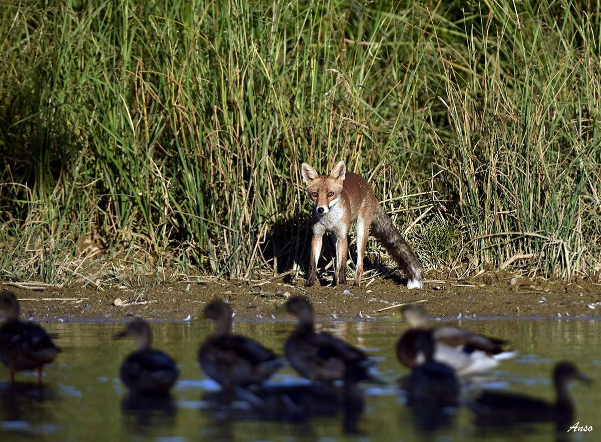
<svg viewBox="0 0 601 442">
<path fill-rule="evenodd" d="M 317 261 L 322 252 L 322 236 L 332 233 L 336 249 L 334 285 L 346 284 L 346 260 L 349 250 L 347 234 L 350 223 L 356 220 L 357 267 L 355 284 L 361 285 L 363 255 L 371 233 L 382 242 L 407 276 L 407 288 L 421 288 L 421 268 L 409 244 L 392 224 L 378 203 L 370 185 L 356 173 L 346 172 L 340 161 L 330 175 L 320 176 L 307 163 L 301 166 L 302 178 L 313 203 L 313 238 L 311 239 L 310 270 L 305 282 L 311 287 L 317 279 Z"/>
</svg>

